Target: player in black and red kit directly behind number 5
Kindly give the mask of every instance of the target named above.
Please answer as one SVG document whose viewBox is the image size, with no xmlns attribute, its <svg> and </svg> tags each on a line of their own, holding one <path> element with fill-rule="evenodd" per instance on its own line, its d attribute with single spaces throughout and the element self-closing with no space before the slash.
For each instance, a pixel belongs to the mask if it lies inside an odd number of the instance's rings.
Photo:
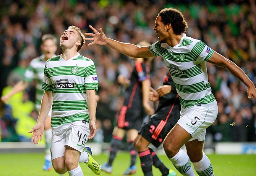
<svg viewBox="0 0 256 176">
<path fill-rule="evenodd" d="M 149 148 L 150 143 L 156 148 L 159 147 L 180 117 L 180 100 L 170 73 L 164 76 L 163 86 L 157 90 L 151 88 L 149 100 L 160 101 L 156 113 L 150 117 L 148 122 L 143 124 L 139 130 L 139 135 L 134 140 L 134 145 L 141 159 L 141 168 L 145 176 L 153 176 L 153 163 L 156 168 L 159 168 L 162 176 L 176 176 L 173 170 L 169 170 L 162 163 L 153 149 Z"/>
</svg>

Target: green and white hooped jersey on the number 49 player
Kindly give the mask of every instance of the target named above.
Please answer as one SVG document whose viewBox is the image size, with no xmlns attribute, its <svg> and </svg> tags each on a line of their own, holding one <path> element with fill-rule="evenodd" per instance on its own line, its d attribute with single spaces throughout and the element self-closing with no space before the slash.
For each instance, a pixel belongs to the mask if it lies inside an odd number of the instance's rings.
<svg viewBox="0 0 256 176">
<path fill-rule="evenodd" d="M 42 89 L 52 91 L 52 131 L 72 122 L 90 122 L 86 90 L 98 90 L 98 77 L 91 59 L 79 53 L 65 61 L 61 55 L 47 60 Z"/>
</svg>

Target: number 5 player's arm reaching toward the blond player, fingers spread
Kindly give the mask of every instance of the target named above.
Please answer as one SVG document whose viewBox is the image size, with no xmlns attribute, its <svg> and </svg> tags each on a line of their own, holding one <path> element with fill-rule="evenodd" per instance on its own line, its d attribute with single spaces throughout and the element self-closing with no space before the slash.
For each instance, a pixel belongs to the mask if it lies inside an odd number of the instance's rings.
<svg viewBox="0 0 256 176">
<path fill-rule="evenodd" d="M 84 33 L 84 35 L 92 36 L 91 38 L 86 38 L 87 41 L 92 41 L 88 44 L 88 46 L 93 44 L 99 44 L 99 45 L 107 45 L 110 48 L 115 49 L 118 52 L 121 52 L 122 54 L 128 55 L 130 57 L 134 58 L 146 58 L 146 57 L 155 57 L 154 54 L 152 54 L 149 51 L 149 46 L 136 46 L 134 44 L 130 43 L 123 43 L 117 40 L 113 40 L 111 38 L 108 38 L 105 33 L 102 31 L 102 28 L 99 29 L 99 32 L 89 25 L 89 27 L 92 29 L 94 33 Z"/>
</svg>

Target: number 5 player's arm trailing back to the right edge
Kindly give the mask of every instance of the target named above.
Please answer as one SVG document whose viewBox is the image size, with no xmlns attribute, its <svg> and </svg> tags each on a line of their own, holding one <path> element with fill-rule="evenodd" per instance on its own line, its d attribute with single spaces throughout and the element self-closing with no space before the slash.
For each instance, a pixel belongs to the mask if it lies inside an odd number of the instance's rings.
<svg viewBox="0 0 256 176">
<path fill-rule="evenodd" d="M 212 55 L 211 59 L 208 60 L 208 62 L 223 67 L 230 71 L 230 73 L 232 73 L 234 76 L 240 79 L 240 81 L 242 81 L 247 86 L 248 98 L 251 98 L 251 96 L 253 96 L 256 99 L 256 88 L 253 82 L 248 78 L 245 72 L 243 72 L 243 70 L 241 70 L 241 68 L 239 68 L 235 63 L 233 63 L 231 60 L 225 58 L 217 52 L 214 52 L 214 54 Z"/>
</svg>

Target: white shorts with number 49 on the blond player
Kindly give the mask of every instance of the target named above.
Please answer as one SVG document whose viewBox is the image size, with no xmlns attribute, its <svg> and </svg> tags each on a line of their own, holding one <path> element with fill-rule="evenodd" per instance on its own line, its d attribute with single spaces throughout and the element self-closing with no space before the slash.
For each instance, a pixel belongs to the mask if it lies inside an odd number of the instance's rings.
<svg viewBox="0 0 256 176">
<path fill-rule="evenodd" d="M 64 156 L 65 146 L 83 152 L 89 135 L 89 124 L 86 121 L 76 121 L 64 130 L 52 132 L 52 146 L 50 149 L 52 160 Z"/>
</svg>

